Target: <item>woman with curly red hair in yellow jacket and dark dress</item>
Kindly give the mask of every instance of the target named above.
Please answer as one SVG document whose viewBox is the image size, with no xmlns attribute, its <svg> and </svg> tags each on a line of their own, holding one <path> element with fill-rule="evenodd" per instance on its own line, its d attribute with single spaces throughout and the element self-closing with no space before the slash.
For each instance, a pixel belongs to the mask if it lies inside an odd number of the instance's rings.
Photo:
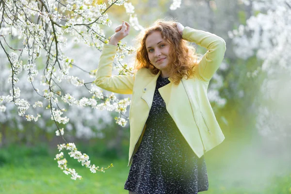
<svg viewBox="0 0 291 194">
<path fill-rule="evenodd" d="M 112 76 L 123 22 L 104 45 L 96 85 L 132 94 L 129 109 L 129 194 L 197 194 L 208 190 L 204 153 L 225 139 L 207 98 L 225 41 L 209 32 L 157 20 L 140 34 L 133 76 Z M 208 49 L 197 60 L 188 42 Z"/>
</svg>

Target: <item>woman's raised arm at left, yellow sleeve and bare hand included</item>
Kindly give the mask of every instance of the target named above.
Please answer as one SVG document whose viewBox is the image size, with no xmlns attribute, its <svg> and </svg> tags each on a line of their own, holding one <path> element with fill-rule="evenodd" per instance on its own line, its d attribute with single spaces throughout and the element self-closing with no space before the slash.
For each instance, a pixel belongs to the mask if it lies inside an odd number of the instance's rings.
<svg viewBox="0 0 291 194">
<path fill-rule="evenodd" d="M 123 22 L 115 28 L 115 32 L 108 45 L 103 46 L 97 67 L 95 84 L 107 91 L 119 94 L 132 94 L 134 76 L 112 76 L 113 61 L 116 54 L 117 43 L 129 34 L 129 24 Z"/>
</svg>

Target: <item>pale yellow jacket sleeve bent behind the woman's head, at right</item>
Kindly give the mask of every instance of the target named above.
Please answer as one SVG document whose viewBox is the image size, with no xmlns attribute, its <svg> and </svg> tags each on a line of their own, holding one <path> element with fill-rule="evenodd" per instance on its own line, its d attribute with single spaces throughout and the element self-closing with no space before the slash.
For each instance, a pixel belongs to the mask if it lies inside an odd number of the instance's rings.
<svg viewBox="0 0 291 194">
<path fill-rule="evenodd" d="M 184 28 L 182 38 L 208 49 L 199 61 L 197 68 L 198 76 L 204 81 L 210 81 L 224 58 L 226 42 L 213 33 L 190 27 Z"/>
</svg>

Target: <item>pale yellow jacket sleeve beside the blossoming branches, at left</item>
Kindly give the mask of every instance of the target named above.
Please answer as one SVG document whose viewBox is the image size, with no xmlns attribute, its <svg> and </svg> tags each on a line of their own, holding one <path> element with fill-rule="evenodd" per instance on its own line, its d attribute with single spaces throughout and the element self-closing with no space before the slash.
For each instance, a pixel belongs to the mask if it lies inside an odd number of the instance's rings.
<svg viewBox="0 0 291 194">
<path fill-rule="evenodd" d="M 112 76 L 113 61 L 117 46 L 104 44 L 97 67 L 95 84 L 107 91 L 119 94 L 132 94 L 135 76 Z"/>
</svg>

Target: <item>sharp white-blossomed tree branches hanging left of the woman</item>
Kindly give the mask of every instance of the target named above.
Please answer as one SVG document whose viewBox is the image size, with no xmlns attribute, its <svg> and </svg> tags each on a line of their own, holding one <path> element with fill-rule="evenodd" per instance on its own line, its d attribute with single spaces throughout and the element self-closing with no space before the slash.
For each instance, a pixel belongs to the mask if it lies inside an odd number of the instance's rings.
<svg viewBox="0 0 291 194">
<path fill-rule="evenodd" d="M 66 111 L 62 108 L 62 103 L 68 105 L 87 107 L 93 109 L 109 110 L 120 113 L 119 117 L 115 117 L 116 122 L 125 126 L 127 120 L 121 116 L 125 116 L 127 106 L 130 104 L 129 98 L 118 100 L 114 94 L 104 96 L 95 84 L 94 79 L 85 82 L 76 76 L 70 75 L 71 68 L 79 68 L 74 64 L 74 60 L 65 56 L 63 49 L 67 42 L 67 37 L 77 37 L 78 41 L 82 41 L 86 45 L 97 50 L 102 49 L 102 44 L 108 42 L 101 26 L 111 26 L 112 21 L 106 13 L 113 5 L 123 5 L 129 15 L 129 21 L 136 30 L 142 27 L 138 24 L 138 20 L 134 15 L 134 7 L 126 0 L 109 0 L 97 4 L 93 0 L 1 0 L 0 1 L 0 46 L 7 56 L 9 64 L 10 76 L 8 83 L 11 84 L 10 95 L 0 96 L 0 103 L 13 103 L 18 109 L 19 116 L 24 116 L 28 121 L 37 121 L 40 114 L 26 114 L 31 108 L 45 107 L 51 113 L 51 119 L 56 126 L 56 135 L 61 136 L 65 144 L 58 145 L 59 154 L 55 160 L 58 166 L 65 174 L 70 174 L 72 179 L 81 178 L 78 173 L 67 167 L 67 161 L 64 158 L 63 149 L 69 151 L 70 157 L 81 162 L 90 169 L 92 173 L 112 167 L 111 164 L 107 168 L 100 168 L 91 164 L 89 156 L 78 151 L 74 143 L 67 143 L 64 135 L 64 128 L 60 128 L 60 124 L 69 122 L 69 118 L 62 116 Z M 22 40 L 21 48 L 13 48 L 9 40 L 10 38 Z M 133 51 L 126 44 L 118 44 L 117 64 L 115 68 L 119 69 L 120 74 L 131 74 L 132 69 L 126 63 L 121 63 L 125 54 Z M 41 76 L 41 84 L 46 87 L 40 91 L 35 84 L 34 78 L 38 75 L 37 58 L 46 59 L 43 75 Z M 20 88 L 17 87 L 19 79 L 17 76 L 23 71 L 28 74 L 28 82 L 31 83 L 33 90 L 37 95 L 43 97 L 44 101 L 35 101 L 33 99 L 23 99 L 20 97 Z M 23 72 L 22 72 L 23 73 Z M 87 72 L 91 78 L 94 78 L 94 71 Z M 93 80 L 93 81 L 92 81 Z M 72 95 L 65 93 L 59 83 L 67 81 L 76 87 L 85 87 L 91 98 L 82 97 L 80 100 L 75 99 Z M 63 101 L 59 103 L 59 98 Z M 31 106 L 31 104 L 33 104 Z M 4 112 L 6 107 L 0 105 L 0 111 Z M 125 116 L 126 117 L 126 116 Z"/>
</svg>

